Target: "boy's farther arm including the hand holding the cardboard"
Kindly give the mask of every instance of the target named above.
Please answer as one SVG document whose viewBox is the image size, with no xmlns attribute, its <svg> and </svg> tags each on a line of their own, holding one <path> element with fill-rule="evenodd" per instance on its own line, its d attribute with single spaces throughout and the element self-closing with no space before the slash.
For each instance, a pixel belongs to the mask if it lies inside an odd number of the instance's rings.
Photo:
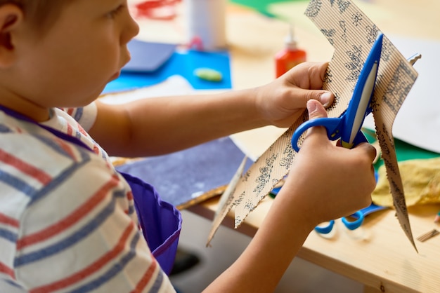
<svg viewBox="0 0 440 293">
<path fill-rule="evenodd" d="M 326 68 L 326 63 L 300 64 L 266 86 L 216 95 L 148 98 L 116 106 L 98 101 L 89 132 L 112 156 L 148 156 L 264 125 L 289 127 L 307 100 L 331 104 L 332 95 L 321 90 Z"/>
</svg>

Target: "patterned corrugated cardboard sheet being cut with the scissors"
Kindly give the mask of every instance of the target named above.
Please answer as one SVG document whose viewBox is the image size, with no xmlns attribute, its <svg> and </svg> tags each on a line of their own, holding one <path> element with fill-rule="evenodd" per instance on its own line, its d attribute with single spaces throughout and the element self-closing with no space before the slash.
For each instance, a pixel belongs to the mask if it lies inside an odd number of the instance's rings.
<svg viewBox="0 0 440 293">
<path fill-rule="evenodd" d="M 328 109 L 329 117 L 338 117 L 351 99 L 365 59 L 379 32 L 376 25 L 351 1 L 312 0 L 305 14 L 315 23 L 335 54 L 330 61 L 323 88 L 335 94 L 335 102 Z M 382 158 L 391 182 L 394 207 L 403 231 L 415 247 L 406 209 L 403 186 L 396 160 L 392 125 L 403 100 L 413 86 L 418 74 L 396 47 L 384 36 L 382 57 L 373 97 L 373 115 Z M 308 119 L 306 112 L 292 127 L 281 135 L 247 171 L 238 182 L 235 201 L 235 228 L 242 224 L 247 214 L 273 189 L 295 163 L 295 151 L 290 144 L 295 129 Z M 304 137 L 300 139 L 299 146 Z"/>
</svg>

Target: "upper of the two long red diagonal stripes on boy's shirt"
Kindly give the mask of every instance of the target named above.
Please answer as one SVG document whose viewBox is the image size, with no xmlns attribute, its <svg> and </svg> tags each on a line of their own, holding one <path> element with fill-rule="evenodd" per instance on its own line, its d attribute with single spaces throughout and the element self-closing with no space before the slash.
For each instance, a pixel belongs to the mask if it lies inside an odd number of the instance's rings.
<svg viewBox="0 0 440 293">
<path fill-rule="evenodd" d="M 17 241 L 17 249 L 20 250 L 23 247 L 28 245 L 32 245 L 35 243 L 39 243 L 51 236 L 56 235 L 67 229 L 70 226 L 73 226 L 80 219 L 82 219 L 87 213 L 93 210 L 101 201 L 107 196 L 108 191 L 115 187 L 119 183 L 119 178 L 117 175 L 113 175 L 112 178 L 99 189 L 89 200 L 86 201 L 83 205 L 80 205 L 76 210 L 70 213 L 67 217 L 62 219 L 60 222 L 48 226 L 46 229 L 38 231 L 36 233 L 29 234 Z"/>
</svg>

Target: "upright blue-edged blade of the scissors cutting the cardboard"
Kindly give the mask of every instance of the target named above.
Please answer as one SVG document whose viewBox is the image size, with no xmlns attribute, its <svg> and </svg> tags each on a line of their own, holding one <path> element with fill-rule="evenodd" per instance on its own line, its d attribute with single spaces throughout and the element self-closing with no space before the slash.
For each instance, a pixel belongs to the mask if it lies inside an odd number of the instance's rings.
<svg viewBox="0 0 440 293">
<path fill-rule="evenodd" d="M 354 139 L 361 131 L 365 116 L 370 114 L 370 101 L 375 88 L 380 54 L 382 53 L 382 39 L 383 34 L 379 33 L 367 60 L 365 60 L 345 114 L 345 129 L 342 132 L 341 142 L 343 147 L 349 149 L 354 146 Z"/>
</svg>

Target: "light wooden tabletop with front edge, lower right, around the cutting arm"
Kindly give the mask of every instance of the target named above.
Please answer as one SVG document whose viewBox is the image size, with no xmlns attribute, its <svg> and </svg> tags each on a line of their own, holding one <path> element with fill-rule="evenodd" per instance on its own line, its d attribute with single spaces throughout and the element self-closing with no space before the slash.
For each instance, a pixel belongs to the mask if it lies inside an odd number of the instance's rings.
<svg viewBox="0 0 440 293">
<path fill-rule="evenodd" d="M 266 197 L 237 231 L 252 237 L 272 201 Z M 216 199 L 208 200 L 189 210 L 212 219 L 216 204 Z M 433 215 L 439 210 L 440 205 L 410 208 L 415 237 L 439 230 L 433 223 Z M 233 228 L 233 213 L 228 214 L 223 224 Z M 365 217 L 361 231 L 348 231 L 337 219 L 332 238 L 312 232 L 297 256 L 361 282 L 365 292 L 439 292 L 440 236 L 424 243 L 415 241 L 418 253 L 401 230 L 394 211 L 384 210 Z"/>
</svg>

